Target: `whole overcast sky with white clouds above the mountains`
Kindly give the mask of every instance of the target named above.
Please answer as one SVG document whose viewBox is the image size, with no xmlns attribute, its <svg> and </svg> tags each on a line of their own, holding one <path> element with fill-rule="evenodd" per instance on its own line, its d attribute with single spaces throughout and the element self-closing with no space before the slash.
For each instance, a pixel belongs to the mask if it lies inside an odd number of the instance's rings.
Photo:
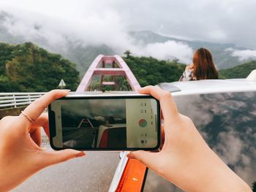
<svg viewBox="0 0 256 192">
<path fill-rule="evenodd" d="M 58 45 L 64 44 L 64 39 L 72 39 L 84 45 L 104 43 L 121 50 L 129 47 L 138 55 L 150 55 L 152 49 L 170 47 L 184 61 L 192 55 L 192 49 L 187 45 L 167 42 L 148 45 L 142 50 L 128 37 L 127 31 L 151 30 L 182 39 L 234 43 L 250 49 L 244 55 L 256 55 L 255 9 L 255 0 L 0 2 L 0 10 L 15 15 L 15 19 L 4 23 L 12 34 L 26 34 L 30 39 L 41 36 Z M 183 51 L 177 51 L 177 47 Z M 167 57 L 162 51 L 154 54 L 157 58 Z"/>
</svg>

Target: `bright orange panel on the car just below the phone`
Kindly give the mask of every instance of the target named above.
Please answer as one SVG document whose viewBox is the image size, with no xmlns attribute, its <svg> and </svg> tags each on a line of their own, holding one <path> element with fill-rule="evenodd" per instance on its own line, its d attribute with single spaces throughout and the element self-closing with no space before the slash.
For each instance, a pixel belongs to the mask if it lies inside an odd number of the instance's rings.
<svg viewBox="0 0 256 192">
<path fill-rule="evenodd" d="M 143 187 L 145 173 L 146 166 L 144 164 L 129 158 L 116 192 L 140 192 Z"/>
</svg>

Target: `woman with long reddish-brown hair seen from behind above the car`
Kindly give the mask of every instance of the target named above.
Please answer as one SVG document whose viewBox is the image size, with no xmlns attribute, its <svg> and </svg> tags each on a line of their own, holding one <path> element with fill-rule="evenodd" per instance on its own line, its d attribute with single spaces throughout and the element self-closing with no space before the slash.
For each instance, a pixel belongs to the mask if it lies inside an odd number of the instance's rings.
<svg viewBox="0 0 256 192">
<path fill-rule="evenodd" d="M 186 66 L 179 81 L 218 79 L 218 71 L 211 52 L 206 48 L 195 51 L 193 63 Z"/>
</svg>

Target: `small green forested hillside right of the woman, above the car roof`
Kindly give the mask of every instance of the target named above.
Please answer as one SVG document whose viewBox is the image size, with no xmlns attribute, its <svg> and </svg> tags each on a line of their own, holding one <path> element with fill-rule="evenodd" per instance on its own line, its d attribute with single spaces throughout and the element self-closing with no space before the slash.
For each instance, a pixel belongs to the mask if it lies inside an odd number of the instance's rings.
<svg viewBox="0 0 256 192">
<path fill-rule="evenodd" d="M 246 78 L 253 69 L 256 69 L 256 61 L 249 61 L 229 69 L 219 70 L 219 77 L 222 79 Z"/>
</svg>

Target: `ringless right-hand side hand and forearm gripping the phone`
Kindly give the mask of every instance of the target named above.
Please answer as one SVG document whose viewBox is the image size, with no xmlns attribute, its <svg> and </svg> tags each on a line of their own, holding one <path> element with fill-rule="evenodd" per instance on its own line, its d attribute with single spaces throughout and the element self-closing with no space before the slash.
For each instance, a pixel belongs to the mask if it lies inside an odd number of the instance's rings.
<svg viewBox="0 0 256 192">
<path fill-rule="evenodd" d="M 251 191 L 208 147 L 192 120 L 178 113 L 169 92 L 153 86 L 139 92 L 160 101 L 165 142 L 158 153 L 138 150 L 128 158 L 138 159 L 184 191 Z"/>
</svg>

